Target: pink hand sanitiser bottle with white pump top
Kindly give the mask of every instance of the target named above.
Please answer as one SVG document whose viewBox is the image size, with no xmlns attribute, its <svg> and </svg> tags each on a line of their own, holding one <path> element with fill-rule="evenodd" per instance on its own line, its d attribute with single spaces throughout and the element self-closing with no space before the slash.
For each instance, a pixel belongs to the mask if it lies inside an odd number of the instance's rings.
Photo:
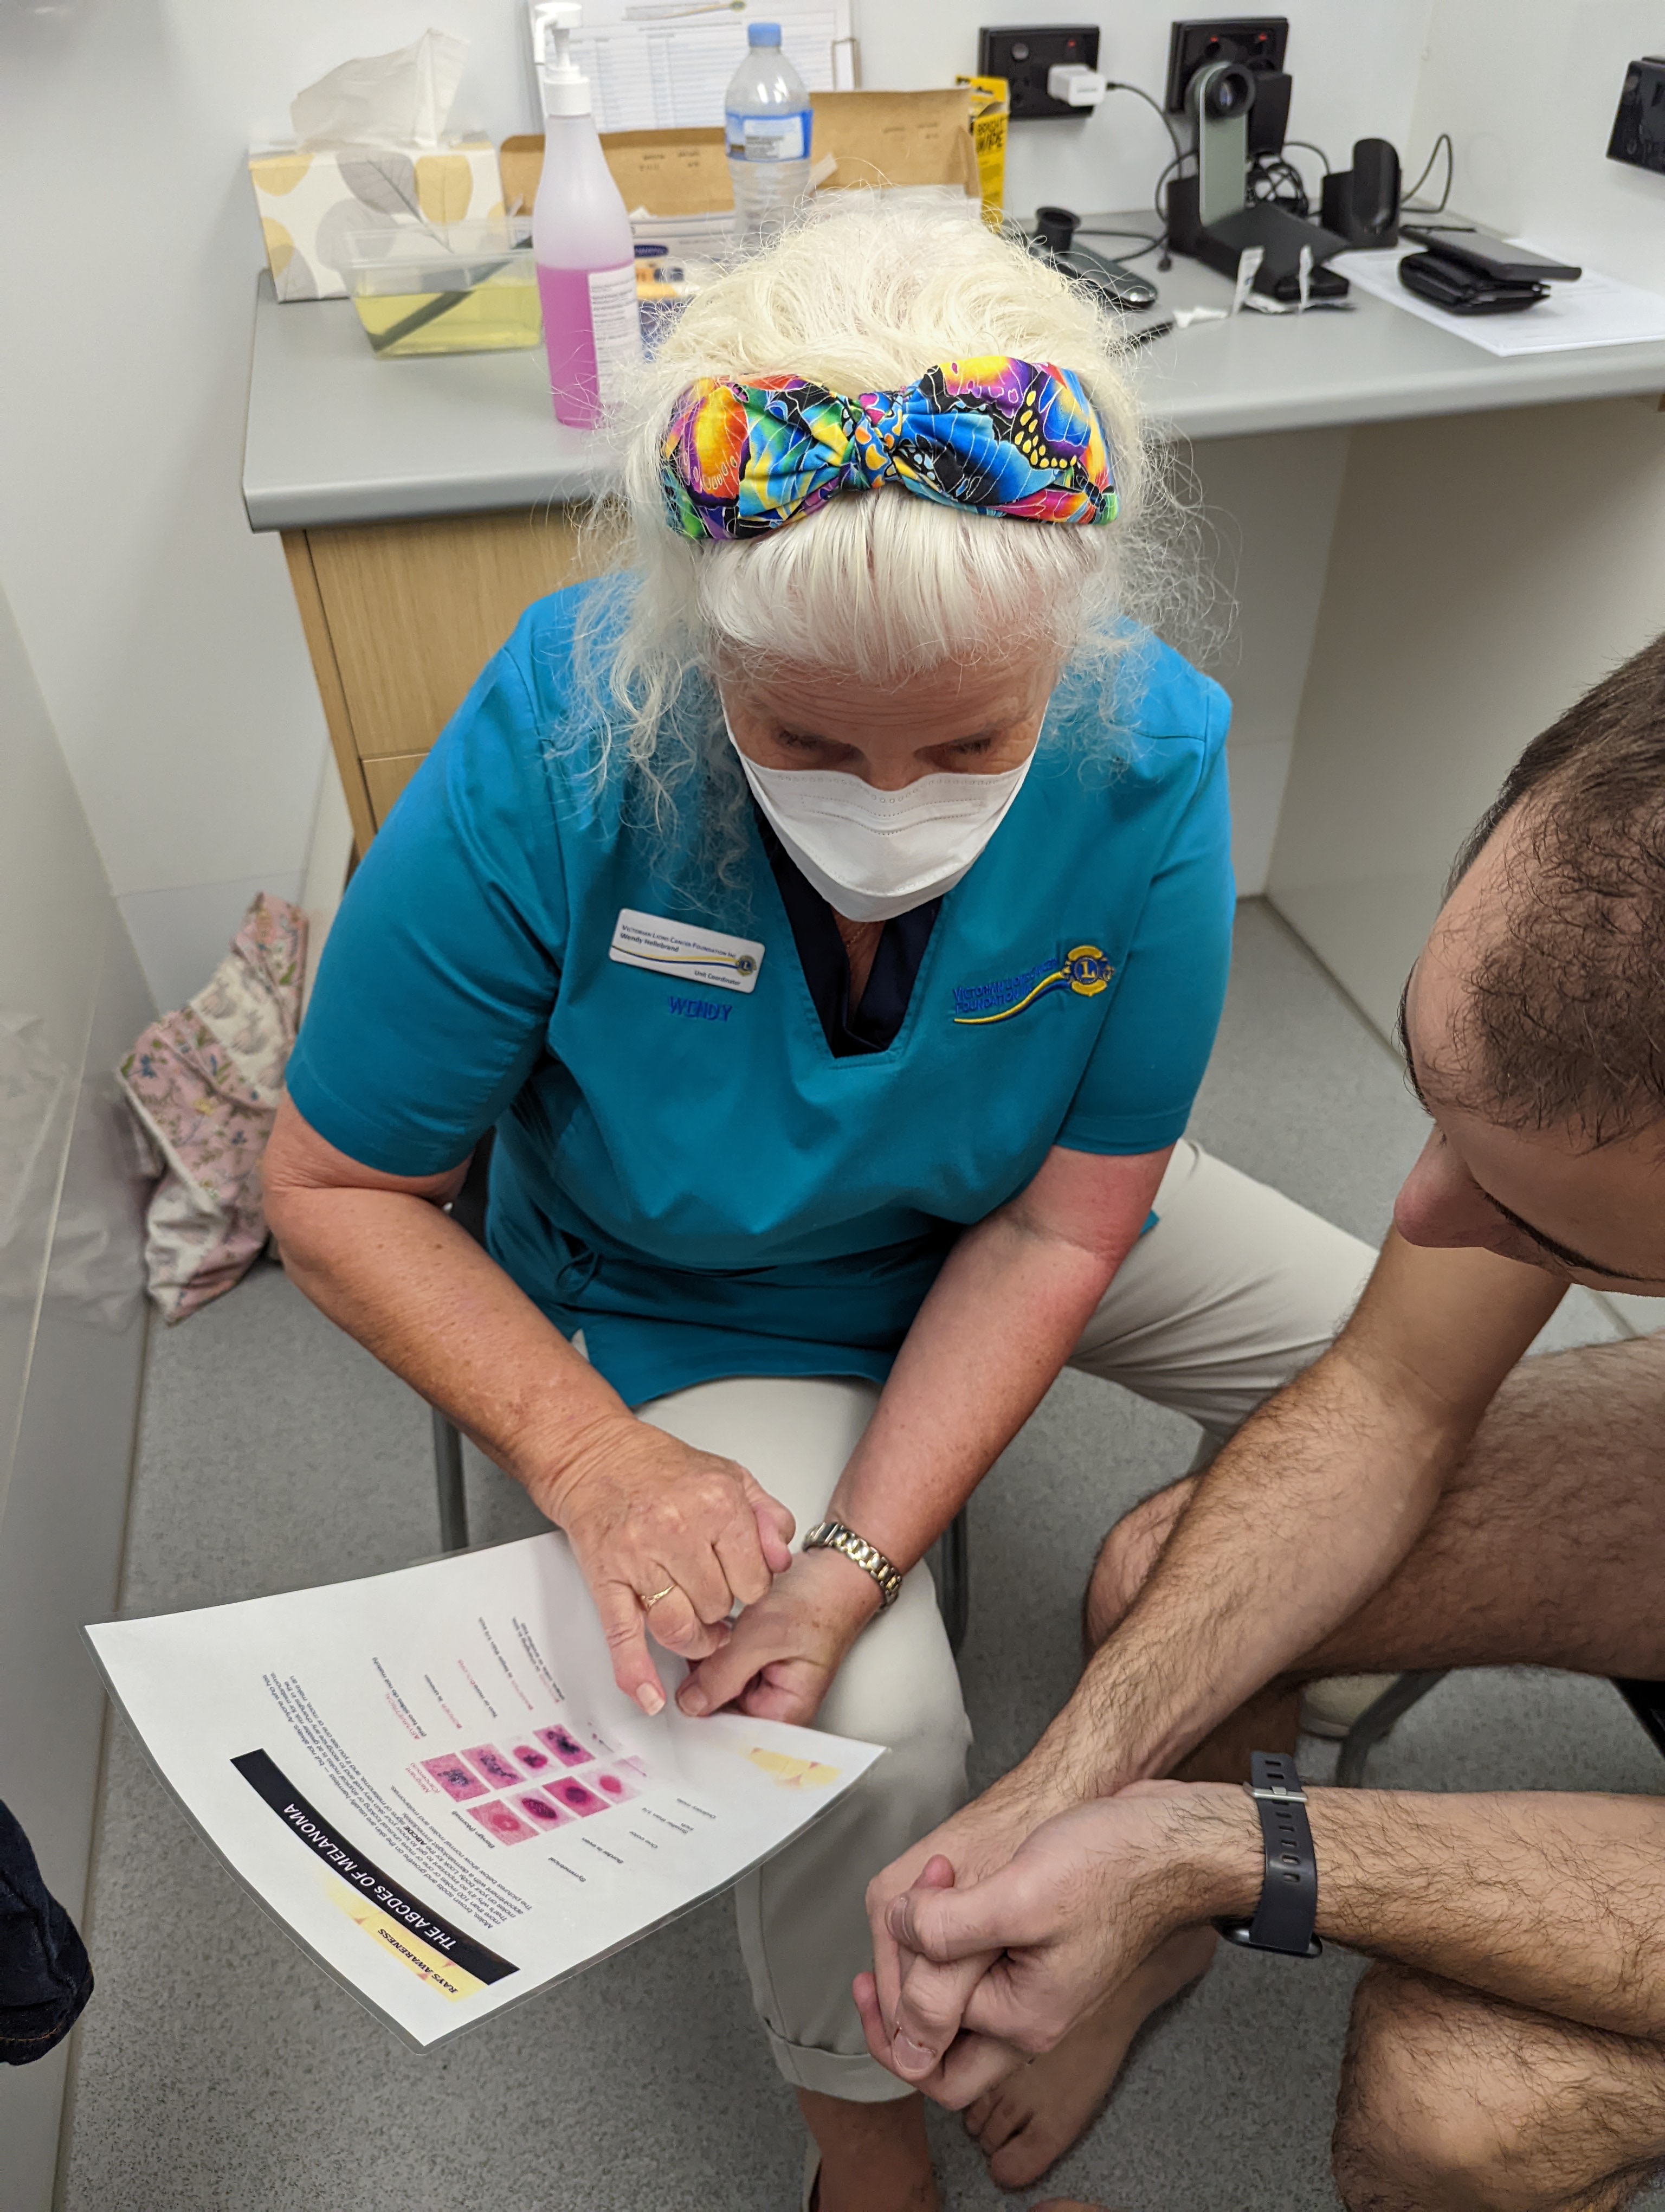
<svg viewBox="0 0 1665 2212">
<path fill-rule="evenodd" d="M 570 53 L 579 18 L 579 0 L 533 7 L 544 93 L 533 259 L 555 420 L 593 429 L 619 372 L 641 361 L 641 314 L 630 217 L 595 135 L 590 82 Z"/>
</svg>

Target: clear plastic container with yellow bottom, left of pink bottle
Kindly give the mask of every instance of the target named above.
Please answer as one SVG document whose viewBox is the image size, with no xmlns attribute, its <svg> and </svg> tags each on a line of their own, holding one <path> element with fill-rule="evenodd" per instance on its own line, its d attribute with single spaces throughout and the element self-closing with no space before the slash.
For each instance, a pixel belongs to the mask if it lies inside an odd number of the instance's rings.
<svg viewBox="0 0 1665 2212">
<path fill-rule="evenodd" d="M 537 268 L 520 221 L 360 230 L 341 261 L 371 352 L 500 354 L 537 345 Z"/>
</svg>

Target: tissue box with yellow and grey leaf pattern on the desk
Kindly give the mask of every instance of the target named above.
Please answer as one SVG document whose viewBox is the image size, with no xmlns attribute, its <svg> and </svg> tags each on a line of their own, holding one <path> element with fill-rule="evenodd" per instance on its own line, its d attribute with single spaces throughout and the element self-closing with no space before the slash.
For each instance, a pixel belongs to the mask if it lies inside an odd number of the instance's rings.
<svg viewBox="0 0 1665 2212">
<path fill-rule="evenodd" d="M 345 299 L 347 241 L 413 223 L 502 215 L 491 139 L 440 146 L 272 146 L 248 157 L 265 261 L 279 299 Z"/>
</svg>

